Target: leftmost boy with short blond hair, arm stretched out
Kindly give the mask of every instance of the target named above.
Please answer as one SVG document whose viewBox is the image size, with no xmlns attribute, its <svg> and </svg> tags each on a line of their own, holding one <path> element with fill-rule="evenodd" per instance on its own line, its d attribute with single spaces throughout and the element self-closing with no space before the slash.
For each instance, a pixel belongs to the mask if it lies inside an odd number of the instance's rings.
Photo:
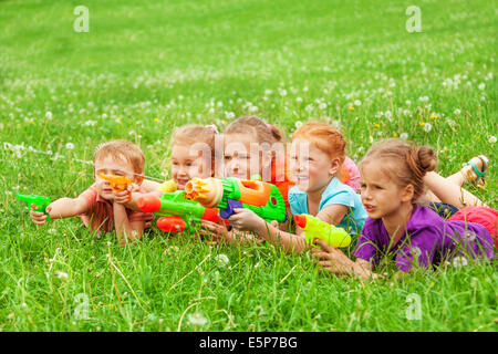
<svg viewBox="0 0 498 354">
<path fill-rule="evenodd" d="M 94 184 L 76 198 L 61 198 L 46 207 L 50 219 L 81 217 L 90 230 L 97 232 L 116 230 L 120 243 L 141 239 L 145 223 L 153 215 L 134 211 L 126 207 L 132 191 L 144 192 L 145 156 L 134 144 L 126 140 L 113 140 L 97 146 L 93 156 Z M 127 190 L 114 191 L 100 174 L 125 176 L 132 180 Z M 35 209 L 33 205 L 32 208 Z M 43 225 L 46 216 L 40 211 L 30 211 L 32 221 Z"/>
</svg>

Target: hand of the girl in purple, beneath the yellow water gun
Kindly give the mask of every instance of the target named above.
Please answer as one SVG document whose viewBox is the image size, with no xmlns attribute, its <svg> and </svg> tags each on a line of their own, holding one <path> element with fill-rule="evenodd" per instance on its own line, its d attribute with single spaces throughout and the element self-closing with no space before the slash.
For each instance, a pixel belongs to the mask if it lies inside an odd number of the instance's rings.
<svg viewBox="0 0 498 354">
<path fill-rule="evenodd" d="M 353 261 L 343 252 L 320 239 L 314 239 L 313 243 L 322 248 L 312 247 L 311 253 L 323 270 L 335 274 L 350 274 L 352 272 Z"/>
</svg>

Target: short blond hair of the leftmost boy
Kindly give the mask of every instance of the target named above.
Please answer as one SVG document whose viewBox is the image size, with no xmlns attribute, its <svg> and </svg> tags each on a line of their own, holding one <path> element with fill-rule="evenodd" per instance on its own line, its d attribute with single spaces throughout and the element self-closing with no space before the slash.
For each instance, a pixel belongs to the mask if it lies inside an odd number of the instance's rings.
<svg viewBox="0 0 498 354">
<path fill-rule="evenodd" d="M 142 174 L 144 171 L 144 153 L 138 146 L 131 142 L 117 139 L 97 145 L 95 153 L 93 154 L 93 163 L 95 164 L 95 162 L 107 156 L 128 162 L 136 174 Z"/>
</svg>

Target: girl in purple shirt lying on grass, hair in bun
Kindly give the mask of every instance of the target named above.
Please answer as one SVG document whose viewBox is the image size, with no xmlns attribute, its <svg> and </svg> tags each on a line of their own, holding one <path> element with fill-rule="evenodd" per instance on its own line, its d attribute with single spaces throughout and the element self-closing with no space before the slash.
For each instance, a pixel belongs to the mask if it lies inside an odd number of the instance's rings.
<svg viewBox="0 0 498 354">
<path fill-rule="evenodd" d="M 353 252 L 356 261 L 317 239 L 322 249 L 312 248 L 312 252 L 320 266 L 367 279 L 376 277 L 372 268 L 385 253 L 394 254 L 402 272 L 455 257 L 491 259 L 494 240 L 483 225 L 469 219 L 445 221 L 414 204 L 424 194 L 424 176 L 435 167 L 434 150 L 427 146 L 390 139 L 372 147 L 360 166 L 361 197 L 369 219 Z M 483 207 L 481 215 L 496 218 L 496 210 L 489 210 Z"/>
</svg>

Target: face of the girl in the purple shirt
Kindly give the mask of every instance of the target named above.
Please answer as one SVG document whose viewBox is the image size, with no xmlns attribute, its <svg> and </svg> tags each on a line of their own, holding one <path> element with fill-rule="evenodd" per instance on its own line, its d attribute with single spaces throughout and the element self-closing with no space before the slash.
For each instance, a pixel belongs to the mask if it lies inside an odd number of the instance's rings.
<svg viewBox="0 0 498 354">
<path fill-rule="evenodd" d="M 378 168 L 385 162 L 364 162 L 361 170 L 361 197 L 370 218 L 395 216 L 403 202 L 411 201 L 413 186 L 400 187 Z M 411 194 L 412 192 L 412 194 Z"/>
</svg>

